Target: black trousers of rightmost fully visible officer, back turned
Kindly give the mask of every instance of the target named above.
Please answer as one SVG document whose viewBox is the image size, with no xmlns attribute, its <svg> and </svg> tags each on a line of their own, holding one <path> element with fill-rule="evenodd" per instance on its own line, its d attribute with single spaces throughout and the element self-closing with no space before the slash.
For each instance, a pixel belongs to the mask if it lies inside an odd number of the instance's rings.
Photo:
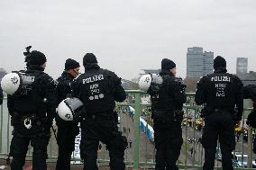
<svg viewBox="0 0 256 170">
<path fill-rule="evenodd" d="M 234 121 L 230 112 L 213 112 L 206 116 L 202 144 L 205 148 L 204 170 L 213 170 L 219 139 L 224 170 L 233 170 L 232 151 L 235 147 Z"/>
</svg>

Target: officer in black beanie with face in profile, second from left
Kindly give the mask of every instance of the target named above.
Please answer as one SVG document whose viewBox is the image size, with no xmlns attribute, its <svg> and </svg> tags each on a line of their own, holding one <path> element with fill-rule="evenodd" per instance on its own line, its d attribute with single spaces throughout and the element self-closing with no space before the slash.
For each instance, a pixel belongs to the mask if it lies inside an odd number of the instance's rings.
<svg viewBox="0 0 256 170">
<path fill-rule="evenodd" d="M 74 59 L 67 59 L 65 62 L 65 70 L 57 79 L 58 102 L 67 97 L 71 97 L 71 82 L 79 74 L 79 63 Z M 59 146 L 59 155 L 56 164 L 56 170 L 69 170 L 72 151 L 75 148 L 75 138 L 79 133 L 78 122 L 63 121 L 56 117 L 58 126 L 57 143 Z"/>
</svg>

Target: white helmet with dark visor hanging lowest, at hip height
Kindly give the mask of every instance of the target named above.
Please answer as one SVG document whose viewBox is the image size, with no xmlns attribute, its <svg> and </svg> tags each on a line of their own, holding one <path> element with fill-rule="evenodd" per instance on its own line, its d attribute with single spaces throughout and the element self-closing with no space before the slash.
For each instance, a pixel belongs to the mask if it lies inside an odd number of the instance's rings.
<svg viewBox="0 0 256 170">
<path fill-rule="evenodd" d="M 84 104 L 76 97 L 64 99 L 58 106 L 59 117 L 64 121 L 78 121 L 85 113 Z"/>
</svg>

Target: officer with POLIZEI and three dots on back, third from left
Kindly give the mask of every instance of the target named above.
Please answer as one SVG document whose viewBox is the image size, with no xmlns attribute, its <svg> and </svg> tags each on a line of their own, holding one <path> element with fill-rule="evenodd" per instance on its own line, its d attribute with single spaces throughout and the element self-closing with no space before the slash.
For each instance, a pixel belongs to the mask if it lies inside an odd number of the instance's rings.
<svg viewBox="0 0 256 170">
<path fill-rule="evenodd" d="M 78 76 L 72 84 L 74 96 L 86 108 L 81 121 L 80 155 L 84 159 L 84 170 L 96 170 L 99 141 L 106 144 L 110 156 L 110 168 L 123 170 L 124 150 L 127 140 L 117 130 L 114 121 L 114 101 L 123 102 L 126 94 L 121 79 L 114 72 L 97 65 L 96 56 L 87 53 L 83 58 L 85 73 Z"/>
</svg>

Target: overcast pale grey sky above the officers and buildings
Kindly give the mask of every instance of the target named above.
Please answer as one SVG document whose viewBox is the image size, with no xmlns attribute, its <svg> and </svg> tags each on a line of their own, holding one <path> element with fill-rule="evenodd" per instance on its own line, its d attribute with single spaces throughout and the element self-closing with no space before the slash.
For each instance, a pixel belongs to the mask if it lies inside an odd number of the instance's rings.
<svg viewBox="0 0 256 170">
<path fill-rule="evenodd" d="M 67 58 L 82 65 L 87 52 L 125 79 L 160 68 L 162 58 L 185 77 L 187 47 L 199 46 L 226 58 L 231 73 L 239 57 L 255 71 L 255 16 L 255 0 L 1 0 L 0 67 L 22 69 L 32 45 L 54 78 Z"/>
</svg>

